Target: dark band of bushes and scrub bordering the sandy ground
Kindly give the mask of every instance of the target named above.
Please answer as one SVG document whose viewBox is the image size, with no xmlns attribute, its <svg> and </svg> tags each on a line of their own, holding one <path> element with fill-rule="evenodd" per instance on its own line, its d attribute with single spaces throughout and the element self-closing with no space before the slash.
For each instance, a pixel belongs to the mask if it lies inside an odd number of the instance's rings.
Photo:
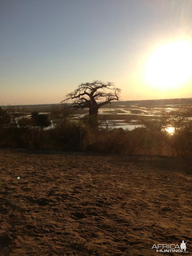
<svg viewBox="0 0 192 256">
<path fill-rule="evenodd" d="M 140 123 L 129 131 L 115 129 L 107 116 L 98 126 L 91 116 L 75 121 L 69 108 L 61 105 L 50 107 L 49 114 L 28 114 L 21 106 L 0 107 L 0 147 L 192 156 L 191 107 L 165 110 L 157 119 Z"/>
</svg>

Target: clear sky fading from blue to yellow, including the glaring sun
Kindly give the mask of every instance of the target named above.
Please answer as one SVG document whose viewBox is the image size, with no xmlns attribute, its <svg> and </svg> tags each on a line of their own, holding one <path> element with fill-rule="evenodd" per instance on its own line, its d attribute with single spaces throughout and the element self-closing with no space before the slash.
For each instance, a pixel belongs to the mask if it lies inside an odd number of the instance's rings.
<svg viewBox="0 0 192 256">
<path fill-rule="evenodd" d="M 1 0 L 0 24 L 0 105 L 93 80 L 121 100 L 192 97 L 191 0 Z"/>
</svg>

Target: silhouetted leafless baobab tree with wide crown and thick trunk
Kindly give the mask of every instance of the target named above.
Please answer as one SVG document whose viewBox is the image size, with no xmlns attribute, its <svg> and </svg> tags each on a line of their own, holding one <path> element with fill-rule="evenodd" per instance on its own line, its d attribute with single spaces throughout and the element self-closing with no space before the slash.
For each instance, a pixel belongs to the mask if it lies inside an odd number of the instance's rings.
<svg viewBox="0 0 192 256">
<path fill-rule="evenodd" d="M 113 83 L 102 81 L 93 81 L 91 83 L 81 83 L 76 90 L 66 95 L 61 103 L 67 103 L 75 110 L 89 108 L 89 115 L 98 116 L 98 109 L 111 101 L 119 100 L 120 89 L 116 88 Z"/>
</svg>

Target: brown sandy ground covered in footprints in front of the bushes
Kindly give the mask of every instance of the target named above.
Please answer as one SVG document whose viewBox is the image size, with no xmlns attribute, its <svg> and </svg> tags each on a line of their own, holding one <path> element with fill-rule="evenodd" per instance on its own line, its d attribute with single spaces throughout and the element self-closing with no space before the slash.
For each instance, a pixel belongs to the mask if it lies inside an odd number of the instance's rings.
<svg viewBox="0 0 192 256">
<path fill-rule="evenodd" d="M 188 239 L 191 254 L 191 169 L 167 157 L 0 149 L 0 255 L 152 256 L 163 255 L 154 243 Z"/>
</svg>

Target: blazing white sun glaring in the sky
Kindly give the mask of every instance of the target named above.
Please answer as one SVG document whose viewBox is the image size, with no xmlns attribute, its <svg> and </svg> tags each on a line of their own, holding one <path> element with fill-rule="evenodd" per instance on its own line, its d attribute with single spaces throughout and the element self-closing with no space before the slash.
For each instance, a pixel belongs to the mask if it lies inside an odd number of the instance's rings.
<svg viewBox="0 0 192 256">
<path fill-rule="evenodd" d="M 147 59 L 147 84 L 160 88 L 174 88 L 192 78 L 192 43 L 180 40 L 162 45 Z"/>
</svg>

